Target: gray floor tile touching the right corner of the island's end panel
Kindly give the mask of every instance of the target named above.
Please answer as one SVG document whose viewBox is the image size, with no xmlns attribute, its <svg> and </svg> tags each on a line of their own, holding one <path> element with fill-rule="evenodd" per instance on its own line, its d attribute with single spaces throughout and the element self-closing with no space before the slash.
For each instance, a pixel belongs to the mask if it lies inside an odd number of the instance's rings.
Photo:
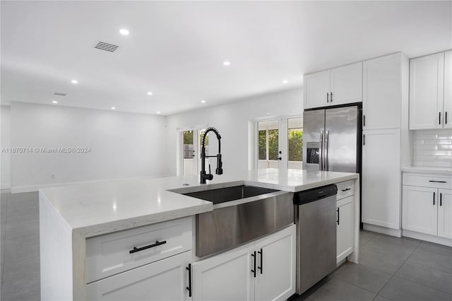
<svg viewBox="0 0 452 301">
<path fill-rule="evenodd" d="M 405 262 L 404 256 L 388 256 L 388 254 L 359 249 L 359 264 L 376 268 L 385 273 L 396 273 L 398 268 Z"/>
</svg>

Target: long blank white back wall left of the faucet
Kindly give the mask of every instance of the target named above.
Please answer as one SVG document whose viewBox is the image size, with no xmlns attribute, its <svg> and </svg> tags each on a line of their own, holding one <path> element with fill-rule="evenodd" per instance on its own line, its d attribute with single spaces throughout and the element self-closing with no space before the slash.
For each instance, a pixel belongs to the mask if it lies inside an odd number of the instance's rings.
<svg viewBox="0 0 452 301">
<path fill-rule="evenodd" d="M 166 141 L 165 117 L 13 102 L 12 147 L 87 147 L 90 153 L 13 153 L 12 189 L 162 176 Z"/>
</svg>

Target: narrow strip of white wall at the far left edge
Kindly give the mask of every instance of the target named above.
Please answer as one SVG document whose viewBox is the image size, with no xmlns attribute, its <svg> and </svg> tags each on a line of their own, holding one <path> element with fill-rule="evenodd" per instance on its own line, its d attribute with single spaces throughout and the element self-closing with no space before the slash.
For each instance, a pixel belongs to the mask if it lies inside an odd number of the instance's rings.
<svg viewBox="0 0 452 301">
<path fill-rule="evenodd" d="M 1 148 L 11 147 L 11 131 L 10 131 L 10 107 L 6 105 L 1 106 L 0 110 L 1 120 Z M 11 153 L 1 152 L 1 185 L 0 189 L 11 188 Z"/>
</svg>

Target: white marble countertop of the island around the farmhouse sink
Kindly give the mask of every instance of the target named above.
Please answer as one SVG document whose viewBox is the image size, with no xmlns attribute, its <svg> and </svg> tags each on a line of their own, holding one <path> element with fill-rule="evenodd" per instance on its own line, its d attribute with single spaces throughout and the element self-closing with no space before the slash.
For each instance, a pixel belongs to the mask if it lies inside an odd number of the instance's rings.
<svg viewBox="0 0 452 301">
<path fill-rule="evenodd" d="M 214 175 L 208 184 L 242 182 L 295 192 L 357 177 L 347 172 L 266 169 L 242 176 Z M 208 184 L 199 184 L 198 176 L 86 182 L 40 189 L 40 201 L 49 202 L 71 230 L 91 237 L 212 211 L 209 201 L 168 191 Z"/>
</svg>

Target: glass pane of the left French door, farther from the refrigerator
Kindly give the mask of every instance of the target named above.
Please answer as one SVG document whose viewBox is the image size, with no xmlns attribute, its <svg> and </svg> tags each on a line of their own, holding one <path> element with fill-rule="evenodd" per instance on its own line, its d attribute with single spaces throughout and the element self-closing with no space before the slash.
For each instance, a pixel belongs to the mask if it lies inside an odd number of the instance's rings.
<svg viewBox="0 0 452 301">
<path fill-rule="evenodd" d="M 279 121 L 258 122 L 258 169 L 278 168 Z"/>
</svg>

